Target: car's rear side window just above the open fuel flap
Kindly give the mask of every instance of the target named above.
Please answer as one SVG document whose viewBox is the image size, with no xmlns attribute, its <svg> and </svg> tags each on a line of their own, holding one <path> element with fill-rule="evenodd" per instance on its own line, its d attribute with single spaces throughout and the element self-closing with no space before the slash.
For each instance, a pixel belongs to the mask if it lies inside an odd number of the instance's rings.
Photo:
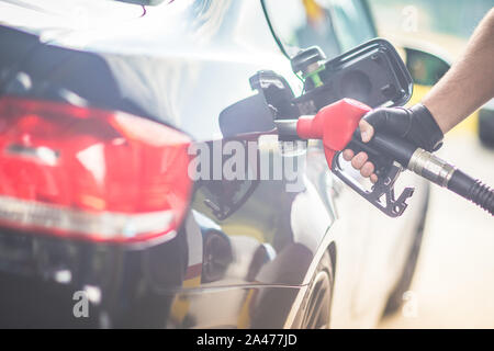
<svg viewBox="0 0 494 351">
<path fill-rule="evenodd" d="M 362 0 L 263 0 L 274 34 L 293 56 L 319 46 L 335 57 L 375 36 Z"/>
</svg>

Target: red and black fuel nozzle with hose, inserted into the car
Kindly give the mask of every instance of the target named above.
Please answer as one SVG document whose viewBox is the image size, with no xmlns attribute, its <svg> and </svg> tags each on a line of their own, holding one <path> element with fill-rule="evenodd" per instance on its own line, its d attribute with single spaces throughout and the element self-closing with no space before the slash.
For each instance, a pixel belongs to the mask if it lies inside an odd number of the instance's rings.
<svg viewBox="0 0 494 351">
<path fill-rule="evenodd" d="M 394 183 L 406 168 L 494 214 L 494 190 L 435 155 L 404 138 L 381 133 L 363 143 L 358 124 L 370 110 L 356 100 L 343 99 L 321 109 L 315 115 L 274 121 L 274 124 L 281 137 L 321 139 L 333 173 L 390 217 L 401 216 L 407 206 L 406 200 L 413 195 L 413 188 L 405 188 L 398 196 L 394 192 Z M 371 191 L 346 174 L 339 165 L 338 154 L 346 148 L 356 155 L 367 152 L 374 163 L 378 182 Z"/>
</svg>

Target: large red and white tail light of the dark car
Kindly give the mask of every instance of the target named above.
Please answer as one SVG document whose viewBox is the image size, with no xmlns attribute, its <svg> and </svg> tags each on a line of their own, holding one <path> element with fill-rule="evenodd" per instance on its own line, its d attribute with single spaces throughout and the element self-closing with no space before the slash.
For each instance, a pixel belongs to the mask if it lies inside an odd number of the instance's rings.
<svg viewBox="0 0 494 351">
<path fill-rule="evenodd" d="M 190 144 L 123 112 L 0 99 L 0 225 L 96 241 L 172 236 Z"/>
</svg>

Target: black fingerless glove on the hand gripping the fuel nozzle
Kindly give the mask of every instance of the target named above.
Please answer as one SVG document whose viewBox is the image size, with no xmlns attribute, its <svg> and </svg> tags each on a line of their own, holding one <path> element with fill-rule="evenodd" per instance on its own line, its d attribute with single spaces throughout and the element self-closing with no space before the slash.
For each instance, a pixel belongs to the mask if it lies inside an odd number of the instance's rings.
<svg viewBox="0 0 494 351">
<path fill-rule="evenodd" d="M 377 109 L 364 117 L 375 132 L 403 137 L 431 152 L 442 146 L 442 132 L 433 114 L 418 103 L 412 109 Z"/>
</svg>

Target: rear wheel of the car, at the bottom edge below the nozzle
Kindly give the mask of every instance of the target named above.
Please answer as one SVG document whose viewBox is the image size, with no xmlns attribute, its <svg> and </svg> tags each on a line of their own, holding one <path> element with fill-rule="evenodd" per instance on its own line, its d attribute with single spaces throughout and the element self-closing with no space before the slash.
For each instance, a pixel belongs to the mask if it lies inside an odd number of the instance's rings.
<svg viewBox="0 0 494 351">
<path fill-rule="evenodd" d="M 329 328 L 333 297 L 333 268 L 329 253 L 326 251 L 317 264 L 304 298 L 303 329 Z"/>
</svg>

